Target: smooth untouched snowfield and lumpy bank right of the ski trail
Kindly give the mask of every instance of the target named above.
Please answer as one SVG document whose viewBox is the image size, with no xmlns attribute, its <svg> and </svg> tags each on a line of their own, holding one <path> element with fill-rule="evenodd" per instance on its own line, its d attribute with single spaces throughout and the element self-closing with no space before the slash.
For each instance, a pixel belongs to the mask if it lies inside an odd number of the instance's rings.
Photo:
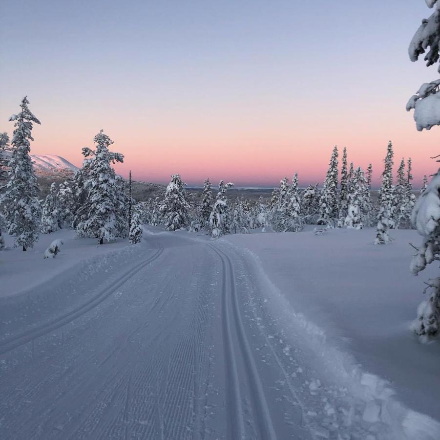
<svg viewBox="0 0 440 440">
<path fill-rule="evenodd" d="M 306 340 L 321 381 L 331 376 L 340 390 L 349 388 L 363 402 L 365 423 L 390 427 L 388 437 L 378 438 L 439 439 L 439 345 L 420 345 L 408 329 L 423 281 L 409 272 L 408 242 L 419 237 L 411 230 L 392 235 L 395 242 L 381 247 L 372 244 L 373 229 L 226 240 L 252 257 L 277 325 L 292 340 Z M 318 380 L 310 381 L 310 393 L 321 389 Z"/>
</svg>

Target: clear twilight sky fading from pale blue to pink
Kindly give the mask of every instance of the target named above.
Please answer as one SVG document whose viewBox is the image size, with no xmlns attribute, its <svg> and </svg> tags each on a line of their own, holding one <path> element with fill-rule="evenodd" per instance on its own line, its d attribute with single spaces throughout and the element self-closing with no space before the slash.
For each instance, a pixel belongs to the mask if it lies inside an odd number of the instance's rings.
<svg viewBox="0 0 440 440">
<path fill-rule="evenodd" d="M 206 177 L 274 186 L 324 179 L 333 146 L 374 183 L 389 140 L 414 185 L 437 164 L 440 127 L 405 111 L 437 66 L 408 44 L 423 0 L 0 0 L 0 131 L 21 98 L 41 120 L 31 154 L 81 166 L 104 129 L 135 180 Z"/>
</svg>

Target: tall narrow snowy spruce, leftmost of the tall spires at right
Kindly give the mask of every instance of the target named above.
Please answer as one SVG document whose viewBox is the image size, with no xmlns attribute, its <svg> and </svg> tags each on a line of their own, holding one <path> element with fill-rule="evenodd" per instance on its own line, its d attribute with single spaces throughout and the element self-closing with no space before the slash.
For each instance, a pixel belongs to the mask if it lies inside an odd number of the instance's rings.
<svg viewBox="0 0 440 440">
<path fill-rule="evenodd" d="M 325 224 L 329 227 L 335 226 L 339 216 L 337 157 L 337 147 L 335 146 L 319 200 L 319 218 L 317 223 Z"/>
</svg>

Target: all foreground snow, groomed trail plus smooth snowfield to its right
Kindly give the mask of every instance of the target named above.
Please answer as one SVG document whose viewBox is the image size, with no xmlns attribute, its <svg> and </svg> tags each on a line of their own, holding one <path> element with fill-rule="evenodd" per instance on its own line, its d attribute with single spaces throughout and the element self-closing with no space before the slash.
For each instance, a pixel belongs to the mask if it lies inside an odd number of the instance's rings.
<svg viewBox="0 0 440 440">
<path fill-rule="evenodd" d="M 1 439 L 440 438 L 413 231 L 149 232 L 0 299 Z"/>
</svg>

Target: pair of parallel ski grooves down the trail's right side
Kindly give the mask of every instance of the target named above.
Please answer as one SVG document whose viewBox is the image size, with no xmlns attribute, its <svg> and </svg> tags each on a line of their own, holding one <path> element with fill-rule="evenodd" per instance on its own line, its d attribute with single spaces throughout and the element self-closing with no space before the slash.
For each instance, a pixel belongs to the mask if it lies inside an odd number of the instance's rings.
<svg viewBox="0 0 440 440">
<path fill-rule="evenodd" d="M 255 360 L 253 358 L 251 345 L 249 344 L 248 337 L 246 335 L 246 331 L 244 329 L 243 320 L 241 318 L 240 308 L 238 305 L 237 292 L 235 288 L 235 275 L 232 266 L 232 262 L 230 257 L 221 251 L 218 247 L 209 244 L 209 246 L 214 250 L 214 252 L 220 257 L 222 261 L 223 267 L 223 315 L 226 318 L 226 341 L 225 349 L 226 353 L 229 357 L 230 354 L 233 355 L 233 345 L 232 345 L 232 336 L 231 336 L 231 328 L 230 328 L 230 320 L 229 320 L 229 308 L 232 308 L 232 314 L 234 316 L 234 322 L 237 330 L 237 337 L 241 349 L 241 353 L 243 355 L 243 361 L 246 368 L 246 375 L 249 383 L 249 391 L 251 394 L 251 405 L 254 411 L 254 421 L 256 426 L 258 427 L 258 434 L 261 439 L 269 440 L 276 439 L 275 430 L 273 429 L 271 413 L 269 411 L 269 406 L 267 404 L 266 396 L 263 391 L 263 385 L 261 383 L 261 378 L 258 373 Z M 227 278 L 229 278 L 229 283 Z M 229 284 L 229 288 L 227 288 Z M 228 359 L 230 361 L 230 359 Z M 229 363 L 229 362 L 228 362 Z M 235 367 L 233 367 L 235 366 Z M 228 370 L 235 369 L 235 376 L 233 377 L 234 388 L 237 387 L 238 390 L 238 374 L 236 371 L 235 361 L 232 361 L 231 365 L 227 365 Z M 229 381 L 227 380 L 227 385 Z M 231 390 L 230 392 L 231 393 Z M 235 399 L 238 397 L 235 393 Z M 240 399 L 239 399 L 240 400 Z M 236 400 L 234 401 L 236 404 Z M 236 408 L 235 408 L 236 410 Z M 243 410 L 239 408 L 239 414 L 241 416 L 241 422 L 243 421 Z M 230 414 L 230 409 L 229 409 Z M 244 428 L 243 428 L 244 429 Z M 241 431 L 240 434 L 244 432 Z M 233 434 L 233 433 L 232 433 Z M 241 434 L 241 438 L 244 438 L 244 435 Z M 232 435 L 232 437 L 228 438 L 237 438 L 236 435 Z"/>
</svg>

